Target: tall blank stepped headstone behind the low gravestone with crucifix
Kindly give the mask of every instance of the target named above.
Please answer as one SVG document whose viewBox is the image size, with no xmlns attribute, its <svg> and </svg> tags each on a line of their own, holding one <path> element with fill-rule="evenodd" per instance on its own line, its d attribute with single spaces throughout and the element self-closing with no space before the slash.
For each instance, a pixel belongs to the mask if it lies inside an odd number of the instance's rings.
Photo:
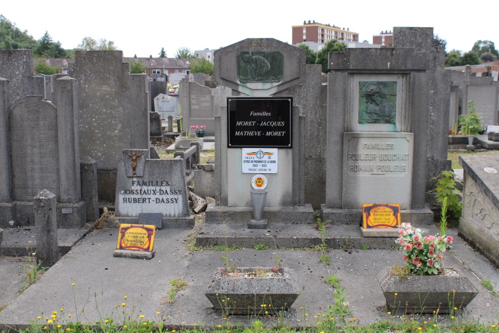
<svg viewBox="0 0 499 333">
<path fill-rule="evenodd" d="M 114 202 L 123 149 L 149 151 L 146 74 L 130 74 L 122 51 L 76 51 L 80 156 L 97 162 L 99 201 Z"/>
</svg>

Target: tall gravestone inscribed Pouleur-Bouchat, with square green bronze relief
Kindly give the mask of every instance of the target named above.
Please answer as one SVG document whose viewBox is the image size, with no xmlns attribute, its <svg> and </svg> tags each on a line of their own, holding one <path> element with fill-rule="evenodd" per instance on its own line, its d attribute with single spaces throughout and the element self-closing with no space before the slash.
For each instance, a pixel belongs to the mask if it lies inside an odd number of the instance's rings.
<svg viewBox="0 0 499 333">
<path fill-rule="evenodd" d="M 358 224 L 362 204 L 399 203 L 403 222 L 433 222 L 428 180 L 450 168 L 450 73 L 432 40 L 433 28 L 395 27 L 396 47 L 329 53 L 323 221 Z"/>
</svg>

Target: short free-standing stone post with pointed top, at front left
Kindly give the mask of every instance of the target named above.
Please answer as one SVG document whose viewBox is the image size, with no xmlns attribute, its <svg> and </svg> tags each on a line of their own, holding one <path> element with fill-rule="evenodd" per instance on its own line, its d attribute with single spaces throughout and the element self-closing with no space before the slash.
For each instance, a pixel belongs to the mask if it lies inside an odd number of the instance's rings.
<svg viewBox="0 0 499 333">
<path fill-rule="evenodd" d="M 36 262 L 51 267 L 59 260 L 55 194 L 42 190 L 33 198 L 36 228 Z"/>
</svg>

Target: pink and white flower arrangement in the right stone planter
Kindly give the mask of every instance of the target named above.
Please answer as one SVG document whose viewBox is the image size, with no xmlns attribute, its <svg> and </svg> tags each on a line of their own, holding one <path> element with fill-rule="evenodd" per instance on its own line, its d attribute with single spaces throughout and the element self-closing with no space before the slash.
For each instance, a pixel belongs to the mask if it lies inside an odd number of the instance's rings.
<svg viewBox="0 0 499 333">
<path fill-rule="evenodd" d="M 443 268 L 442 253 L 451 248 L 452 236 L 423 236 L 423 233 L 420 229 L 411 227 L 410 223 L 402 223 L 395 243 L 403 250 L 402 259 L 410 267 L 412 274 L 440 274 Z"/>
</svg>

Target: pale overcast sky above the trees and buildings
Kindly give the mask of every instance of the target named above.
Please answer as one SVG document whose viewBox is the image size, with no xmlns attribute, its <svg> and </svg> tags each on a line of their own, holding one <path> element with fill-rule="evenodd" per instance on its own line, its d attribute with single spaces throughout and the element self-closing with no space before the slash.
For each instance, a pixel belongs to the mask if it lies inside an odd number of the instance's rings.
<svg viewBox="0 0 499 333">
<path fill-rule="evenodd" d="M 173 57 L 181 46 L 216 49 L 250 37 L 291 43 L 291 26 L 303 20 L 349 27 L 370 43 L 373 34 L 394 26 L 430 26 L 447 40 L 447 51 L 468 51 L 479 39 L 499 48 L 497 5 L 489 3 L 465 8 L 443 0 L 1 0 L 0 13 L 35 39 L 47 30 L 63 48 L 74 48 L 85 36 L 106 38 L 124 56 L 156 57 L 164 47 Z"/>
</svg>

